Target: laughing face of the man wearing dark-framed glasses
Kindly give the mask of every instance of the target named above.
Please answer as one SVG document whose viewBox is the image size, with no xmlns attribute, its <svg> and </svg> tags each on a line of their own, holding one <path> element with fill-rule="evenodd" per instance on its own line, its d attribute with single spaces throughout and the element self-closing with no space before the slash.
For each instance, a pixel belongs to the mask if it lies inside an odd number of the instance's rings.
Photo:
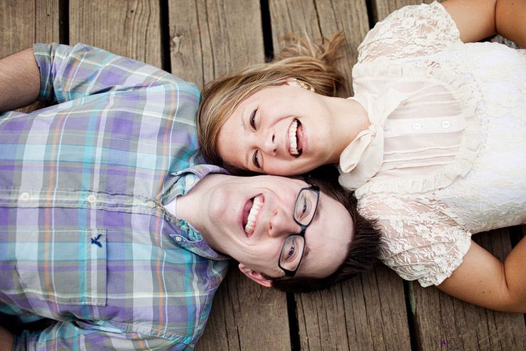
<svg viewBox="0 0 526 351">
<path fill-rule="evenodd" d="M 235 258 L 240 268 L 284 276 L 278 266 L 279 254 L 286 237 L 301 231 L 293 218 L 294 204 L 301 188 L 309 185 L 299 179 L 269 175 L 220 177 L 200 204 L 200 229 L 209 234 L 208 239 L 213 241 L 209 244 Z M 336 271 L 345 258 L 352 233 L 353 221 L 345 207 L 320 192 L 316 216 L 305 232 L 304 258 L 296 275 L 323 278 Z"/>
</svg>

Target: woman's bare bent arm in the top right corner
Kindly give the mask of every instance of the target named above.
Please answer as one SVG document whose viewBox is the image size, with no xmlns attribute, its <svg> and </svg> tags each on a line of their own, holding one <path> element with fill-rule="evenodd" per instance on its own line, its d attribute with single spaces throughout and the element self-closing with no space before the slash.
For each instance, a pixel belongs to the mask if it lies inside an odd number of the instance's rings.
<svg viewBox="0 0 526 351">
<path fill-rule="evenodd" d="M 464 43 L 499 33 L 526 46 L 525 0 L 447 0 L 441 4 L 455 21 Z"/>
</svg>

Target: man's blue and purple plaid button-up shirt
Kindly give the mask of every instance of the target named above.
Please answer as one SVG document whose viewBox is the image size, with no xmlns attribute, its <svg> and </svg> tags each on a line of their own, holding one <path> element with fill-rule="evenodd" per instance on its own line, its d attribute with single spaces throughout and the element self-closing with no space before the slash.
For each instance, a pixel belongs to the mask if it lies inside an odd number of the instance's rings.
<svg viewBox="0 0 526 351">
<path fill-rule="evenodd" d="M 197 88 L 82 44 L 33 51 L 58 105 L 0 115 L 0 312 L 53 323 L 16 348 L 193 348 L 227 271 L 163 206 L 223 172 L 192 167 Z"/>
</svg>

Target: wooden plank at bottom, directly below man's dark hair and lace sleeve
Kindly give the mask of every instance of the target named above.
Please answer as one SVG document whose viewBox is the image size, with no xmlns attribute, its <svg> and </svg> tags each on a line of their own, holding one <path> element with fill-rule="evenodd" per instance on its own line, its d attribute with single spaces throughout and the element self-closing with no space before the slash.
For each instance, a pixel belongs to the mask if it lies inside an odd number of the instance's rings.
<svg viewBox="0 0 526 351">
<path fill-rule="evenodd" d="M 301 350 L 410 350 L 402 279 L 389 268 L 299 295 Z"/>
</svg>

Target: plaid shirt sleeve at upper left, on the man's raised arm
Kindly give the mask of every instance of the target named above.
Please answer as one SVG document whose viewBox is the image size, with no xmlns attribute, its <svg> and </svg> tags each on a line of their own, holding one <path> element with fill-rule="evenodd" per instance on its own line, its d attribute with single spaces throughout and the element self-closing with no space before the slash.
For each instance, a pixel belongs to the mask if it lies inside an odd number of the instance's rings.
<svg viewBox="0 0 526 351">
<path fill-rule="evenodd" d="M 154 66 L 82 43 L 35 44 L 33 52 L 41 73 L 41 100 L 63 103 L 112 90 L 183 81 Z"/>
</svg>

